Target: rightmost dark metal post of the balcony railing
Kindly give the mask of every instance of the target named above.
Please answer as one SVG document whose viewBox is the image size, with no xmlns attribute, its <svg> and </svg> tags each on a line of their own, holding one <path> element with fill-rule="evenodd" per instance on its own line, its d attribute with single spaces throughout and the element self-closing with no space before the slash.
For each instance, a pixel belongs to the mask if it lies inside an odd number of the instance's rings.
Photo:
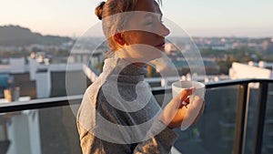
<svg viewBox="0 0 273 154">
<path fill-rule="evenodd" d="M 255 135 L 253 153 L 262 153 L 262 141 L 264 133 L 264 124 L 267 111 L 267 100 L 268 100 L 268 82 L 260 82 L 259 96 L 258 96 L 258 108 L 255 123 Z"/>
</svg>

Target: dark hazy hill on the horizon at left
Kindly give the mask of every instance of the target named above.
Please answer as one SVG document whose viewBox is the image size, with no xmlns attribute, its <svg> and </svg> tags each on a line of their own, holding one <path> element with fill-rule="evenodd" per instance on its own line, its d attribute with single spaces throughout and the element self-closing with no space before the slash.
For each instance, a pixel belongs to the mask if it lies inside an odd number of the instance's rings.
<svg viewBox="0 0 273 154">
<path fill-rule="evenodd" d="M 0 46 L 60 45 L 71 40 L 64 36 L 42 36 L 22 26 L 0 26 Z"/>
</svg>

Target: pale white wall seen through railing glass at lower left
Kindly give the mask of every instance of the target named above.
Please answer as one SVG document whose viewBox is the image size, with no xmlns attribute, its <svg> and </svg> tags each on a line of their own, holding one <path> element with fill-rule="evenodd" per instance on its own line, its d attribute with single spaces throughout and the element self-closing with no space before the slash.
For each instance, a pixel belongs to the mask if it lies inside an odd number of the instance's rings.
<svg viewBox="0 0 273 154">
<path fill-rule="evenodd" d="M 39 118 L 36 110 L 13 115 L 7 131 L 11 141 L 7 154 L 41 154 Z"/>
</svg>

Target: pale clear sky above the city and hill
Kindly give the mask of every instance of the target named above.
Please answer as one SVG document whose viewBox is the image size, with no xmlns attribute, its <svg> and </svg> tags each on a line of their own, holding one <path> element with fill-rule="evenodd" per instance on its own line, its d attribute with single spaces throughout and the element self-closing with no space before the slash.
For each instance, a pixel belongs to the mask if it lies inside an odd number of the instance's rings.
<svg viewBox="0 0 273 154">
<path fill-rule="evenodd" d="M 0 26 L 18 25 L 43 35 L 81 36 L 99 20 L 94 10 L 100 0 L 1 0 Z M 190 36 L 273 36 L 270 0 L 165 0 L 167 19 Z"/>
</svg>

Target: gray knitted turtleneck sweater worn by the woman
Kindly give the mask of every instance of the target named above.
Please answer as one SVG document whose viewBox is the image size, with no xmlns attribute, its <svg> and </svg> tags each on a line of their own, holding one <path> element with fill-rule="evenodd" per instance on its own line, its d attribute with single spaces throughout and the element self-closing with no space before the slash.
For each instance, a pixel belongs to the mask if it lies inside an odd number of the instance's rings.
<svg viewBox="0 0 273 154">
<path fill-rule="evenodd" d="M 177 135 L 157 120 L 161 111 L 146 69 L 120 58 L 105 61 L 82 100 L 77 127 L 84 154 L 170 152 Z"/>
</svg>

